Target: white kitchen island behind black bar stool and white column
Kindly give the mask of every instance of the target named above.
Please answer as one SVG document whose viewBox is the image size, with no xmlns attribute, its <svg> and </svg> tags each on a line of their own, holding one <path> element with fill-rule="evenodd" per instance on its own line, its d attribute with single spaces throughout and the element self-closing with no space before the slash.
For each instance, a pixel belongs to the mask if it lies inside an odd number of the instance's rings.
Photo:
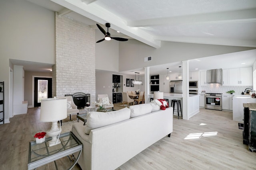
<svg viewBox="0 0 256 170">
<path fill-rule="evenodd" d="M 149 95 L 150 98 L 154 98 L 154 94 Z M 188 97 L 188 119 L 196 113 L 199 113 L 199 96 L 197 94 L 189 94 Z M 180 100 L 181 108 L 182 108 L 182 114 L 183 114 L 183 95 L 182 94 L 174 94 L 174 93 L 164 93 L 164 98 L 169 100 L 169 104 L 171 105 L 171 101 L 176 99 Z M 175 106 L 174 109 L 177 109 Z M 178 113 L 175 111 L 174 115 L 178 116 Z"/>
</svg>

